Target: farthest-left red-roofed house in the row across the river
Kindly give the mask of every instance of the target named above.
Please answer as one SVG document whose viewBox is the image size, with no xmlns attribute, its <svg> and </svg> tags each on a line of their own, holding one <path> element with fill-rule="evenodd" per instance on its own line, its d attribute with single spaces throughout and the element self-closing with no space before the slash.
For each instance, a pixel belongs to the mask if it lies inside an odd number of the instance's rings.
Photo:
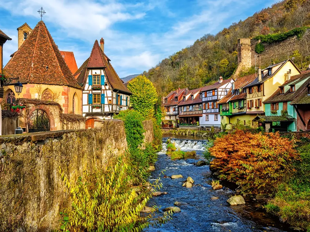
<svg viewBox="0 0 310 232">
<path fill-rule="evenodd" d="M 183 96 L 188 93 L 188 88 L 177 89 L 171 91 L 163 100 L 163 106 L 165 108 L 166 116 L 165 120 L 178 119 L 178 103 L 183 99 Z"/>
</svg>

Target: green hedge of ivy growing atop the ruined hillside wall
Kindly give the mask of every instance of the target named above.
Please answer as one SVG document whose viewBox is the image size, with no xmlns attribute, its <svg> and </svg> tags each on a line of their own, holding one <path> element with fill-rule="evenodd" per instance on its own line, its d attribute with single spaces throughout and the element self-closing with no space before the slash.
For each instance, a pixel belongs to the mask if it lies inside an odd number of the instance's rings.
<svg viewBox="0 0 310 232">
<path fill-rule="evenodd" d="M 306 32 L 306 30 L 309 28 L 310 27 L 308 26 L 304 26 L 304 27 L 294 28 L 293 30 L 290 30 L 288 32 L 283 32 L 283 33 L 278 32 L 275 34 L 259 35 L 259 36 L 256 36 L 254 39 L 260 40 L 263 43 L 271 44 L 275 42 L 281 42 L 291 36 L 297 36 L 298 38 L 301 38 L 303 34 Z M 256 50 L 256 47 L 255 47 L 255 50 Z"/>
</svg>

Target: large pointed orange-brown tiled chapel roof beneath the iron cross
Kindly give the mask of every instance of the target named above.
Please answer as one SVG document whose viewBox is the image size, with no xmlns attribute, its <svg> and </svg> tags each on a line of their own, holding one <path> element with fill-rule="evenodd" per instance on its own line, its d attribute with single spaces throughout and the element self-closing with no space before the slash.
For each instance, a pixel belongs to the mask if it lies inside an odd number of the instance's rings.
<svg viewBox="0 0 310 232">
<path fill-rule="evenodd" d="M 7 77 L 19 77 L 22 83 L 81 88 L 43 21 L 38 22 L 4 70 Z"/>
</svg>

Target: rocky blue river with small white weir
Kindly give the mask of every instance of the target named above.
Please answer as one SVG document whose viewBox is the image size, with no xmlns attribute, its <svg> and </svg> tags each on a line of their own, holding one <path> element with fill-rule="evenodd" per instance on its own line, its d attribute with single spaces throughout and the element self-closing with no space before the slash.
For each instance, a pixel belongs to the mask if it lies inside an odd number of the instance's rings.
<svg viewBox="0 0 310 232">
<path fill-rule="evenodd" d="M 155 164 L 156 170 L 151 173 L 149 181 L 152 183 L 163 170 L 167 176 L 181 174 L 184 178 L 171 179 L 162 178 L 161 191 L 166 195 L 153 197 L 148 206 L 159 206 L 162 209 L 173 206 L 175 201 L 184 202 L 186 205 L 179 206 L 180 213 L 174 213 L 172 220 L 160 228 L 148 228 L 144 231 L 150 232 L 171 232 L 171 231 L 232 231 L 232 232 L 282 232 L 291 231 L 289 226 L 282 224 L 278 219 L 258 208 L 259 202 L 245 198 L 246 205 L 229 206 L 228 198 L 235 194 L 234 191 L 224 186 L 221 190 L 213 190 L 210 182 L 212 176 L 209 166 L 197 167 L 193 163 L 202 160 L 202 153 L 206 141 L 203 138 L 185 137 L 174 138 L 175 146 L 183 151 L 195 150 L 197 159 L 171 160 L 166 156 L 166 140 L 163 139 L 163 149 L 158 153 L 158 161 Z M 184 137 L 183 137 L 184 138 Z M 182 187 L 182 182 L 190 176 L 195 181 L 192 188 Z M 224 185 L 224 184 L 223 184 Z M 211 200 L 216 196 L 218 200 Z"/>
</svg>

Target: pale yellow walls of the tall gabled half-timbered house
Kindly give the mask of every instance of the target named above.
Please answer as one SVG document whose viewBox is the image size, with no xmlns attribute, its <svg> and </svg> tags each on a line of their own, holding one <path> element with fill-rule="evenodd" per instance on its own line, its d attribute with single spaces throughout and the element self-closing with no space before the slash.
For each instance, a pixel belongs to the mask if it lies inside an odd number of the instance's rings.
<svg viewBox="0 0 310 232">
<path fill-rule="evenodd" d="M 291 76 L 299 74 L 299 71 L 295 68 L 295 66 L 288 61 L 273 77 L 263 83 L 263 89 L 261 92 L 257 92 L 257 86 L 254 86 L 254 93 L 249 93 L 249 91 L 247 91 L 246 103 L 247 101 L 253 100 L 253 107 L 251 109 L 247 109 L 246 111 L 265 111 L 263 101 L 267 100 L 274 92 L 277 91 L 280 85 L 288 80 L 287 72 L 289 70 L 291 70 Z M 258 109 L 255 109 L 256 99 L 262 99 L 262 106 Z"/>
</svg>

